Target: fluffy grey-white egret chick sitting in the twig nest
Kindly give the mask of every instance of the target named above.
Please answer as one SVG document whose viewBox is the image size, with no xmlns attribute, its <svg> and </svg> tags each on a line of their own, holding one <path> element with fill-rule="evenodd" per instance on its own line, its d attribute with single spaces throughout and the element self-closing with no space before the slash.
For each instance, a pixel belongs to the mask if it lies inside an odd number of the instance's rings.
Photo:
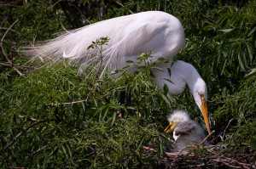
<svg viewBox="0 0 256 169">
<path fill-rule="evenodd" d="M 182 110 L 173 111 L 172 115 L 168 116 L 169 126 L 165 132 L 173 131 L 175 142 L 173 149 L 181 150 L 187 145 L 195 145 L 206 138 L 203 128 L 196 122 L 191 121 L 187 112 Z M 202 145 L 207 145 L 204 142 Z"/>
</svg>

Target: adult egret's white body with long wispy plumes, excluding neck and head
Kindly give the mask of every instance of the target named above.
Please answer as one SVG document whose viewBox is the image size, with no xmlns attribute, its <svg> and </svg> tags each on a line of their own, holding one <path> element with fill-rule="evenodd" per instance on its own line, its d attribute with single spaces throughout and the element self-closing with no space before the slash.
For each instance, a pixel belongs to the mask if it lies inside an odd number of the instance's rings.
<svg viewBox="0 0 256 169">
<path fill-rule="evenodd" d="M 92 54 L 96 49 L 87 48 L 100 37 L 108 37 L 108 46 L 102 50 L 103 63 L 111 70 L 121 69 L 127 60 L 136 61 L 142 53 L 152 51 L 154 59 L 171 59 L 184 45 L 183 26 L 174 16 L 159 11 L 143 12 L 103 20 L 96 24 L 62 33 L 60 37 L 35 47 L 26 47 L 23 52 L 44 59 L 70 59 L 81 64 L 84 70 L 99 57 Z M 102 72 L 103 73 L 103 72 Z"/>
</svg>

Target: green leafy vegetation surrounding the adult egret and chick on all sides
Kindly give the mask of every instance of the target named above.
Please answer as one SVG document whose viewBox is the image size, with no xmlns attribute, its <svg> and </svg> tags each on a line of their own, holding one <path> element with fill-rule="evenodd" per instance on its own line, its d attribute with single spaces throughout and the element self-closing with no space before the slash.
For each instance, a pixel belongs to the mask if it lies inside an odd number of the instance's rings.
<svg viewBox="0 0 256 169">
<path fill-rule="evenodd" d="M 56 32 L 63 31 L 62 27 L 69 30 L 130 11 L 147 10 L 166 11 L 183 23 L 187 44 L 176 59 L 194 65 L 207 82 L 208 110 L 212 130 L 216 131 L 208 140 L 225 147 L 217 149 L 216 155 L 244 153 L 246 158 L 234 158 L 253 167 L 256 4 L 255 1 L 233 2 L 15 0 L 0 3 L 0 167 L 189 165 L 170 157 L 172 139 L 163 130 L 167 125 L 166 115 L 177 109 L 188 110 L 204 127 L 200 110 L 188 88 L 181 95 L 170 96 L 155 87 L 150 73 L 154 65 L 146 61 L 150 54 L 142 54 L 137 63 L 132 63 L 139 65 L 141 71 L 137 75 L 116 70 L 112 73 L 121 76 L 105 75 L 100 79 L 97 72 L 91 73 L 93 65 L 78 74 L 78 68 L 65 61 L 58 65 L 31 63 L 17 53 L 20 46 L 55 37 Z M 90 48 L 98 48 L 101 54 L 106 42 L 107 38 L 96 40 Z M 131 93 L 133 105 L 119 104 L 120 91 Z M 124 118 L 119 117 L 121 112 L 125 112 Z M 131 115 L 132 112 L 137 115 Z M 195 167 L 239 166 L 236 161 L 230 166 L 209 161 L 209 152 L 201 147 L 195 149 L 195 154 L 204 159 L 193 163 Z"/>
</svg>

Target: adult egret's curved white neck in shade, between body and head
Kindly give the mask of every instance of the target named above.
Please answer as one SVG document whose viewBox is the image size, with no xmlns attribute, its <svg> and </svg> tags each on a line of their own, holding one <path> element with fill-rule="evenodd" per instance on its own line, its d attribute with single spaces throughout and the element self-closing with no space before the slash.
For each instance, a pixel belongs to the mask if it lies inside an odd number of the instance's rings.
<svg viewBox="0 0 256 169">
<path fill-rule="evenodd" d="M 164 84 L 169 87 L 170 94 L 179 94 L 183 93 L 183 90 L 186 87 L 186 83 L 189 86 L 190 92 L 195 97 L 196 93 L 196 85 L 198 82 L 201 82 L 201 76 L 195 70 L 193 65 L 190 65 L 186 62 L 181 60 L 177 60 L 171 67 L 172 63 L 169 62 L 168 64 L 160 63 L 157 66 L 160 67 L 163 71 L 160 70 L 153 70 L 154 73 L 154 82 L 160 89 L 163 89 Z M 170 69 L 171 67 L 171 78 L 168 73 L 167 68 Z M 166 81 L 166 79 L 171 80 L 171 82 Z M 203 82 L 203 81 L 202 81 Z"/>
</svg>

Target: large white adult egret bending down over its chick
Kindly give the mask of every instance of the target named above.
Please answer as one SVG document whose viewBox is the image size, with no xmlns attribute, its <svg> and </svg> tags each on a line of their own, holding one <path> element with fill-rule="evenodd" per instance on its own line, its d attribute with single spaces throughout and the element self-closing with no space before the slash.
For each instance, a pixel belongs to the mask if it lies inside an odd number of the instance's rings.
<svg viewBox="0 0 256 169">
<path fill-rule="evenodd" d="M 96 48 L 87 49 L 91 42 L 95 42 L 100 37 L 110 39 L 108 45 L 102 47 L 103 58 L 95 56 Z M 39 57 L 50 62 L 69 59 L 73 64 L 80 64 L 80 70 L 84 70 L 91 63 L 96 63 L 94 69 L 98 69 L 102 61 L 105 65 L 102 75 L 107 67 L 108 70 L 121 69 L 127 65 L 127 60 L 136 62 L 136 58 L 142 53 L 151 52 L 153 60 L 169 59 L 167 65 L 155 61 L 164 71 L 154 70 L 153 73 L 156 76 L 154 82 L 160 89 L 163 89 L 166 83 L 171 94 L 182 93 L 188 84 L 210 133 L 206 83 L 193 65 L 183 61 L 177 61 L 172 65 L 172 58 L 184 43 L 183 25 L 177 18 L 165 12 L 148 11 L 103 20 L 77 30 L 64 32 L 55 39 L 23 48 L 21 51 L 32 58 Z M 171 77 L 167 67 L 171 68 Z"/>
</svg>

